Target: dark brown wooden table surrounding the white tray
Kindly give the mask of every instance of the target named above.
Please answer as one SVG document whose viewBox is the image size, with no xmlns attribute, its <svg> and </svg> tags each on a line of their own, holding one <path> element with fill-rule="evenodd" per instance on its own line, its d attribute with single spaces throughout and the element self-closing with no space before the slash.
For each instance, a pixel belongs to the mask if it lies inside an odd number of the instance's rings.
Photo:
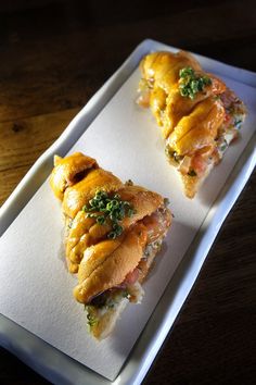
<svg viewBox="0 0 256 385">
<path fill-rule="evenodd" d="M 148 37 L 256 70 L 253 0 L 1 2 L 0 203 Z M 145 384 L 255 382 L 255 181 L 225 222 Z M 1 348 L 0 383 L 48 382 Z"/>
</svg>

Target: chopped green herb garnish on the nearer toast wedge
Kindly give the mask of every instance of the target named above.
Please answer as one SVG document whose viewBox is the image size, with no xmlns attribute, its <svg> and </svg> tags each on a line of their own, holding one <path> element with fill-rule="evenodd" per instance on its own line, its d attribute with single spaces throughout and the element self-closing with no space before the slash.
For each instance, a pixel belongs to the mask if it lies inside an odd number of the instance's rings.
<svg viewBox="0 0 256 385">
<path fill-rule="evenodd" d="M 132 216 L 136 212 L 133 207 L 128 201 L 121 200 L 118 194 L 112 198 L 104 190 L 98 190 L 82 210 L 87 218 L 94 218 L 100 225 L 111 221 L 112 231 L 107 234 L 107 238 L 111 239 L 115 239 L 123 233 L 119 222 L 125 216 Z"/>
</svg>

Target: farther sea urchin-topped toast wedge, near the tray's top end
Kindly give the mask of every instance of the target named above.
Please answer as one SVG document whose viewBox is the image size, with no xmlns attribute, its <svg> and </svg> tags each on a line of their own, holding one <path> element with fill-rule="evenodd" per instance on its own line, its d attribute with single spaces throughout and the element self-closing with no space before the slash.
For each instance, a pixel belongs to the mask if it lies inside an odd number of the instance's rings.
<svg viewBox="0 0 256 385">
<path fill-rule="evenodd" d="M 202 70 L 189 52 L 154 52 L 140 69 L 138 103 L 161 127 L 166 156 L 193 198 L 245 119 L 244 103 L 217 76 Z"/>
</svg>

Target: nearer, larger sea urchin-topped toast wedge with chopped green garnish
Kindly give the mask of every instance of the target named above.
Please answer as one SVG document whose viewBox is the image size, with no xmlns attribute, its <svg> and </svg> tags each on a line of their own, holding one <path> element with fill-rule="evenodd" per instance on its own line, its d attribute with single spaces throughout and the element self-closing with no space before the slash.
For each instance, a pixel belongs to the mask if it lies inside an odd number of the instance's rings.
<svg viewBox="0 0 256 385">
<path fill-rule="evenodd" d="M 74 296 L 86 307 L 91 334 L 103 339 L 126 305 L 141 301 L 170 211 L 158 194 L 123 184 L 80 152 L 54 157 L 50 185 L 62 201 L 66 260 L 78 277 Z"/>
</svg>

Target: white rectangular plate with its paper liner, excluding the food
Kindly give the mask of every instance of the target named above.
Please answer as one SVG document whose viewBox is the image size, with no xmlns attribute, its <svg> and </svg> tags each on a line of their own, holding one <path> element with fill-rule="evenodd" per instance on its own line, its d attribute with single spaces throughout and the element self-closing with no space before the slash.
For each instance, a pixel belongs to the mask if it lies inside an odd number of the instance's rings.
<svg viewBox="0 0 256 385">
<path fill-rule="evenodd" d="M 93 384 L 142 381 L 255 165 L 256 75 L 197 57 L 206 71 L 220 75 L 245 102 L 248 117 L 241 139 L 229 148 L 196 198 L 183 196 L 179 177 L 165 159 L 155 121 L 136 104 L 139 61 L 161 49 L 177 50 L 152 40 L 142 42 L 1 209 L 0 341 L 55 383 L 82 384 L 85 376 Z M 57 258 L 61 208 L 46 181 L 54 153 L 78 150 L 124 182 L 131 178 L 168 197 L 175 214 L 144 285 L 142 305 L 129 305 L 113 335 L 101 344 L 88 336 L 82 307 L 72 298 L 76 278 Z"/>
</svg>

